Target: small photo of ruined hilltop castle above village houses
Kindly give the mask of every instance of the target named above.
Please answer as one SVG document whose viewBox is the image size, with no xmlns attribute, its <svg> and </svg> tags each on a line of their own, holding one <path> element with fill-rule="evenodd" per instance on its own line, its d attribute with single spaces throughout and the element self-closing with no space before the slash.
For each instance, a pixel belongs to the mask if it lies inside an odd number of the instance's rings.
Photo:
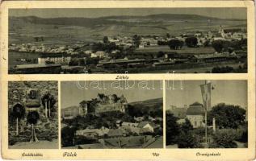
<svg viewBox="0 0 256 161">
<path fill-rule="evenodd" d="M 61 148 L 162 148 L 162 99 L 162 81 L 63 81 Z"/>
</svg>

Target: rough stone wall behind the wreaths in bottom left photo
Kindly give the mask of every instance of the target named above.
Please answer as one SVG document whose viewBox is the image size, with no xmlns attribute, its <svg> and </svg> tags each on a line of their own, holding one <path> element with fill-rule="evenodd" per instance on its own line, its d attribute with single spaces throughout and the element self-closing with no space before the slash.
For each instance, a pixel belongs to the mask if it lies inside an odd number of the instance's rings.
<svg viewBox="0 0 256 161">
<path fill-rule="evenodd" d="M 28 111 L 26 109 L 25 116 L 19 121 L 19 136 L 15 136 L 16 122 L 11 115 L 12 107 L 16 103 L 26 101 L 27 89 L 36 89 L 40 91 L 42 97 L 45 93 L 51 93 L 57 101 L 51 110 L 51 117 L 45 117 L 44 106 L 40 105 L 37 110 L 40 119 L 36 124 L 36 136 L 39 140 L 48 140 L 58 138 L 58 89 L 57 81 L 10 81 L 8 82 L 8 134 L 9 145 L 15 142 L 28 142 L 31 138 L 31 125 L 27 122 Z"/>
</svg>

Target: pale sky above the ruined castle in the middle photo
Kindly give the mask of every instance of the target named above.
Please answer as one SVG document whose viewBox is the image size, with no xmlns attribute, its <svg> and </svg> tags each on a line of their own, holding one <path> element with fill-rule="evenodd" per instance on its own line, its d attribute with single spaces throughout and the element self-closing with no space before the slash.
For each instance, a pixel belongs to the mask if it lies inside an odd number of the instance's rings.
<svg viewBox="0 0 256 161">
<path fill-rule="evenodd" d="M 126 81 L 127 82 L 127 81 Z M 128 102 L 145 101 L 162 97 L 161 81 L 62 81 L 61 82 L 61 108 L 79 105 L 79 102 L 96 98 L 98 93 L 105 95 L 124 94 Z M 125 87 L 132 89 L 124 89 Z M 94 87 L 97 87 L 94 89 Z M 118 87 L 115 89 L 113 87 Z M 147 89 L 144 89 L 146 87 Z"/>
</svg>

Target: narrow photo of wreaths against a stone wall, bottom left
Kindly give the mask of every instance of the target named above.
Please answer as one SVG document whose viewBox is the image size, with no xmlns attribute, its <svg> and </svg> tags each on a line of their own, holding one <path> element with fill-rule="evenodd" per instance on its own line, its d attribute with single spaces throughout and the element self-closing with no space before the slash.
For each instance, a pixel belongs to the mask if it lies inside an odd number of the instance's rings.
<svg viewBox="0 0 256 161">
<path fill-rule="evenodd" d="M 9 81 L 8 148 L 58 146 L 57 81 Z"/>
</svg>

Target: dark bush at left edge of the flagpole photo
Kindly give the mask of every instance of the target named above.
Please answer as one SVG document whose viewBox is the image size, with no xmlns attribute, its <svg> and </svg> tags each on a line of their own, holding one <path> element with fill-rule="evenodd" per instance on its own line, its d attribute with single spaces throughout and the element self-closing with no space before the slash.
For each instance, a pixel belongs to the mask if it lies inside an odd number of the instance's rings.
<svg viewBox="0 0 256 161">
<path fill-rule="evenodd" d="M 174 144 L 177 142 L 176 138 L 180 133 L 180 127 L 177 123 L 178 118 L 174 114 L 166 114 L 166 145 Z"/>
</svg>

